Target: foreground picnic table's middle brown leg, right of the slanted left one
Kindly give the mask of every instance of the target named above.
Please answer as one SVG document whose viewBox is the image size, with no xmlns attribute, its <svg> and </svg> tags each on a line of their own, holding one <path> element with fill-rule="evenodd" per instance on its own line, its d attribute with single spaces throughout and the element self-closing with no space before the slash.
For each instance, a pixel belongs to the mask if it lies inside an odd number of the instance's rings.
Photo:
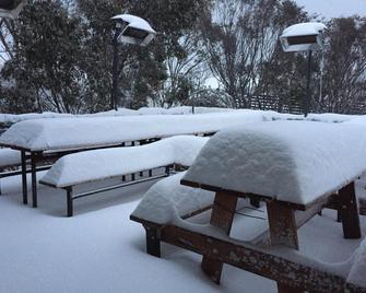
<svg viewBox="0 0 366 293">
<path fill-rule="evenodd" d="M 295 214 L 276 200 L 267 202 L 271 245 L 286 245 L 298 249 Z"/>
</svg>

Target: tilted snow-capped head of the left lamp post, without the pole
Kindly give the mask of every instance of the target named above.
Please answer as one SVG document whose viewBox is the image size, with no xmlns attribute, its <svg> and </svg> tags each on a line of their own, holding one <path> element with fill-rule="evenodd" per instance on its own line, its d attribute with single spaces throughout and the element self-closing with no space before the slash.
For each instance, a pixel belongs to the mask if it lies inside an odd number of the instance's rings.
<svg viewBox="0 0 366 293">
<path fill-rule="evenodd" d="M 120 30 L 118 43 L 147 46 L 156 32 L 143 19 L 131 14 L 119 14 L 111 20 L 116 21 L 116 28 Z"/>
</svg>

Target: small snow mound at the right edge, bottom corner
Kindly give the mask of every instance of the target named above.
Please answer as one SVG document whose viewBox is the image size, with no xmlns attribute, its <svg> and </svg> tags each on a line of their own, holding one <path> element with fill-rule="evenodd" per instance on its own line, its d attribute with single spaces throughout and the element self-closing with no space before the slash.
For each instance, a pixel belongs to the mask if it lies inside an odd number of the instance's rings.
<svg viewBox="0 0 366 293">
<path fill-rule="evenodd" d="M 362 242 L 354 256 L 347 282 L 366 288 L 366 239 Z"/>
</svg>

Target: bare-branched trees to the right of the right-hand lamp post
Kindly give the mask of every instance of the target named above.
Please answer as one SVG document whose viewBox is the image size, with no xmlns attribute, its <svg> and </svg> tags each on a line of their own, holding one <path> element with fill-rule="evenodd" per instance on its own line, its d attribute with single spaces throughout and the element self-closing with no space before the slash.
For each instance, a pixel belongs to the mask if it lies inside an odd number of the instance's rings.
<svg viewBox="0 0 366 293">
<path fill-rule="evenodd" d="M 317 112 L 365 113 L 366 17 L 333 19 L 328 24 L 323 72 L 323 92 L 317 86 L 314 98 Z"/>
</svg>

